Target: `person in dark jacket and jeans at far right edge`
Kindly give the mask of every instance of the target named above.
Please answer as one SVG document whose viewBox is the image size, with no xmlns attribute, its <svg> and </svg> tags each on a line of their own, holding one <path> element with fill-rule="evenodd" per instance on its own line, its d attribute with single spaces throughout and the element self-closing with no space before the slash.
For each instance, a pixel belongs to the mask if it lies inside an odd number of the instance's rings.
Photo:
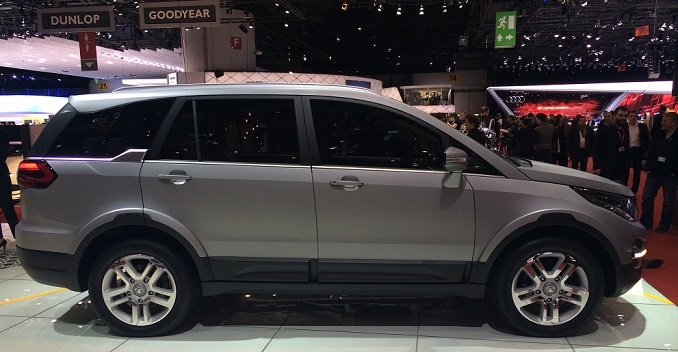
<svg viewBox="0 0 678 352">
<path fill-rule="evenodd" d="M 647 179 L 643 188 L 640 223 L 652 229 L 654 199 L 659 187 L 664 193 L 659 227 L 655 231 L 667 232 L 671 226 L 673 207 L 678 188 L 678 113 L 664 113 L 661 130 L 652 136 L 647 153 Z"/>
</svg>

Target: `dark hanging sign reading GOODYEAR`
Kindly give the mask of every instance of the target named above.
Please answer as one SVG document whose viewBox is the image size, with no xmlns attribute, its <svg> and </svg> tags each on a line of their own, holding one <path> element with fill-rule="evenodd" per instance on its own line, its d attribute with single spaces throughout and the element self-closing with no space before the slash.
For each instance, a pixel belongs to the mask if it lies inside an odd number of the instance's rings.
<svg viewBox="0 0 678 352">
<path fill-rule="evenodd" d="M 219 0 L 142 3 L 139 21 L 141 28 L 218 26 Z"/>
</svg>

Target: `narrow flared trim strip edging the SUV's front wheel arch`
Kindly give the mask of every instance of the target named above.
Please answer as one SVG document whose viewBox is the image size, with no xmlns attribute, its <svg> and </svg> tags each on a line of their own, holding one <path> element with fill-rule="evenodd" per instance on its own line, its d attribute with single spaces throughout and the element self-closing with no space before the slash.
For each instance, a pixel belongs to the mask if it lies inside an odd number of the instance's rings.
<svg viewBox="0 0 678 352">
<path fill-rule="evenodd" d="M 531 230 L 538 229 L 541 227 L 553 227 L 553 226 L 559 226 L 564 228 L 569 227 L 591 235 L 593 239 L 595 239 L 605 248 L 605 251 L 609 254 L 609 257 L 613 258 L 612 260 L 614 261 L 613 263 L 614 267 L 616 268 L 621 267 L 619 259 L 617 258 L 616 255 L 613 255 L 613 253 L 615 253 L 614 247 L 598 230 L 585 223 L 578 221 L 571 214 L 544 214 L 541 217 L 539 217 L 537 221 L 517 229 L 511 235 L 504 238 L 496 248 L 492 249 L 492 254 L 490 255 L 486 262 L 474 263 L 473 269 L 471 270 L 471 275 L 469 277 L 469 282 L 471 283 L 487 282 L 492 272 L 492 267 L 494 263 L 509 246 L 515 244 L 517 240 L 520 241 L 520 237 L 529 233 Z M 616 277 L 619 277 L 619 275 L 620 275 L 619 272 L 615 273 Z"/>
</svg>

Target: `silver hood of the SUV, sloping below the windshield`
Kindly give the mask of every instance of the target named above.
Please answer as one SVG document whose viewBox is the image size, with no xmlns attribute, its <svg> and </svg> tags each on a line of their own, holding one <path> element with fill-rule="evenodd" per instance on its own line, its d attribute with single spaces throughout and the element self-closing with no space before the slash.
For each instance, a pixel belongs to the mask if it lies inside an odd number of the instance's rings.
<svg viewBox="0 0 678 352">
<path fill-rule="evenodd" d="M 534 181 L 559 183 L 568 186 L 590 188 L 603 192 L 633 196 L 633 192 L 624 185 L 604 177 L 539 161 L 531 161 L 532 166 L 520 166 L 518 170 Z"/>
</svg>

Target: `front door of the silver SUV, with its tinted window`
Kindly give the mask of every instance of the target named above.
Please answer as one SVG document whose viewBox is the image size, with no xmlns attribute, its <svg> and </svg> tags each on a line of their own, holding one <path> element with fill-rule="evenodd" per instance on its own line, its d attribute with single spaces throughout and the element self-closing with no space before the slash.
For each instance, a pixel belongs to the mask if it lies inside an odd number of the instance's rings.
<svg viewBox="0 0 678 352">
<path fill-rule="evenodd" d="M 473 255 L 473 190 L 444 188 L 449 137 L 397 110 L 310 98 L 322 282 L 457 282 Z M 315 164 L 315 163 L 314 163 Z"/>
</svg>

